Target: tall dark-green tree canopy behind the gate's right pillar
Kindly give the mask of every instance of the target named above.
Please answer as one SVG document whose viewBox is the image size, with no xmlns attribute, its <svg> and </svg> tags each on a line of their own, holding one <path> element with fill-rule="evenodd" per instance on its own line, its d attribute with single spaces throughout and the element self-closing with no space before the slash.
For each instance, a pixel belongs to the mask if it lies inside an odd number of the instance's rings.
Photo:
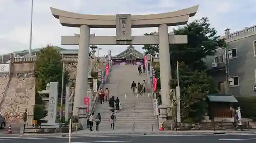
<svg viewBox="0 0 256 143">
<path fill-rule="evenodd" d="M 217 31 L 210 25 L 208 18 L 203 17 L 173 30 L 175 35 L 187 35 L 188 38 L 187 44 L 172 44 L 169 47 L 173 69 L 176 68 L 176 61 L 182 61 L 193 70 L 204 70 L 202 58 L 214 55 L 216 48 L 226 46 L 224 39 L 219 39 L 220 36 L 216 36 Z M 153 35 L 153 33 L 145 35 Z M 146 54 L 159 53 L 158 45 L 144 45 L 143 49 Z"/>
</svg>

